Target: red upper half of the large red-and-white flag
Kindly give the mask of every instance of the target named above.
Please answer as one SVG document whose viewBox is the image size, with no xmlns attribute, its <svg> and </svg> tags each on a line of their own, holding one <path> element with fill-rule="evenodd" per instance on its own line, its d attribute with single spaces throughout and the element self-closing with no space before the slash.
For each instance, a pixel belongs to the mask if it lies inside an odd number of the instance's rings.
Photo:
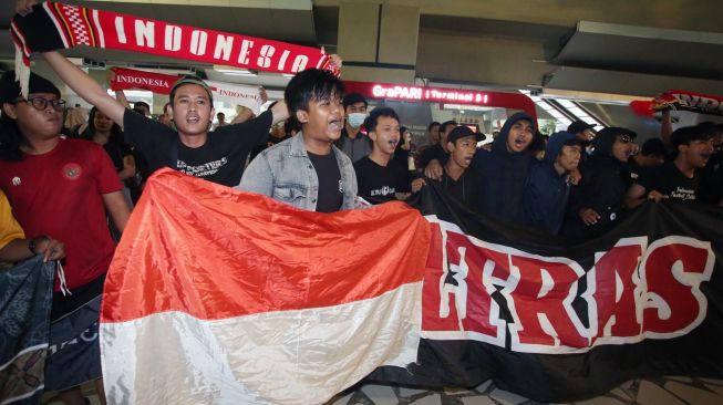
<svg viewBox="0 0 723 405">
<path fill-rule="evenodd" d="M 226 319 L 338 305 L 421 282 L 428 222 L 403 202 L 330 215 L 164 169 L 105 282 L 102 322 Z"/>
</svg>

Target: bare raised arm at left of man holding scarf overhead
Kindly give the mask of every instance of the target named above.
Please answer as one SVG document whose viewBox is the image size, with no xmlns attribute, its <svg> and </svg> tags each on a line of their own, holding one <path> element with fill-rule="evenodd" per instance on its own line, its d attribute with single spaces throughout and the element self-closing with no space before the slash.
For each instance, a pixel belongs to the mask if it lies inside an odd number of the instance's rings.
<svg viewBox="0 0 723 405">
<path fill-rule="evenodd" d="M 65 56 L 56 51 L 42 54 L 50 66 L 58 73 L 60 79 L 68 84 L 81 98 L 95 105 L 97 110 L 111 117 L 113 122 L 123 126 L 123 114 L 125 107 L 115 98 L 111 97 L 93 77 L 71 63 Z"/>
</svg>

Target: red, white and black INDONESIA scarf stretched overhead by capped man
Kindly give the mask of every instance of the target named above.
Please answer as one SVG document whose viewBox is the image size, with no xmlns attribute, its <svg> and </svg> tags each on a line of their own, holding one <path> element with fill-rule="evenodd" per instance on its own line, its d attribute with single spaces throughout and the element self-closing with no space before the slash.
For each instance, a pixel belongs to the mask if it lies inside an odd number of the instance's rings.
<svg viewBox="0 0 723 405">
<path fill-rule="evenodd" d="M 173 24 L 136 15 L 43 2 L 12 19 L 16 72 L 28 94 L 30 55 L 87 45 L 293 74 L 309 68 L 337 66 L 323 50 L 280 41 Z"/>
</svg>

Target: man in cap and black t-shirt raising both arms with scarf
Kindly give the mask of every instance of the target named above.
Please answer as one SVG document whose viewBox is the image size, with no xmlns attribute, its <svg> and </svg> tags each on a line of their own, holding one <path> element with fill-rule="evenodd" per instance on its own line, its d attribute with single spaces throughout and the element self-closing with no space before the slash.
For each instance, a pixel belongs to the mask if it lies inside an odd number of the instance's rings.
<svg viewBox="0 0 723 405">
<path fill-rule="evenodd" d="M 145 155 L 151 172 L 168 166 L 209 181 L 234 186 L 241 178 L 251 148 L 266 141 L 272 123 L 288 116 L 286 104 L 277 103 L 256 120 L 220 127 L 209 136 L 208 127 L 214 116 L 210 89 L 200 79 L 186 76 L 171 90 L 174 131 L 125 108 L 60 53 L 48 52 L 43 56 L 75 93 L 123 126 L 125 142 Z"/>
</svg>

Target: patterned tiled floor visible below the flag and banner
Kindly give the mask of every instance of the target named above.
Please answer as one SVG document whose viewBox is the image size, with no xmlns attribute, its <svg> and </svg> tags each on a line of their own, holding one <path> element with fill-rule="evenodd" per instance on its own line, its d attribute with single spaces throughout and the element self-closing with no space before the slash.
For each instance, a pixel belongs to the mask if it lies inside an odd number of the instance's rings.
<svg viewBox="0 0 723 405">
<path fill-rule="evenodd" d="M 84 390 L 100 404 L 92 385 Z M 52 394 L 43 404 L 61 405 Z M 327 405 L 536 405 L 535 401 L 498 390 L 486 382 L 474 390 L 411 390 L 365 384 L 341 393 Z M 608 394 L 575 405 L 723 405 L 723 380 L 665 377 L 629 381 Z"/>
</svg>

